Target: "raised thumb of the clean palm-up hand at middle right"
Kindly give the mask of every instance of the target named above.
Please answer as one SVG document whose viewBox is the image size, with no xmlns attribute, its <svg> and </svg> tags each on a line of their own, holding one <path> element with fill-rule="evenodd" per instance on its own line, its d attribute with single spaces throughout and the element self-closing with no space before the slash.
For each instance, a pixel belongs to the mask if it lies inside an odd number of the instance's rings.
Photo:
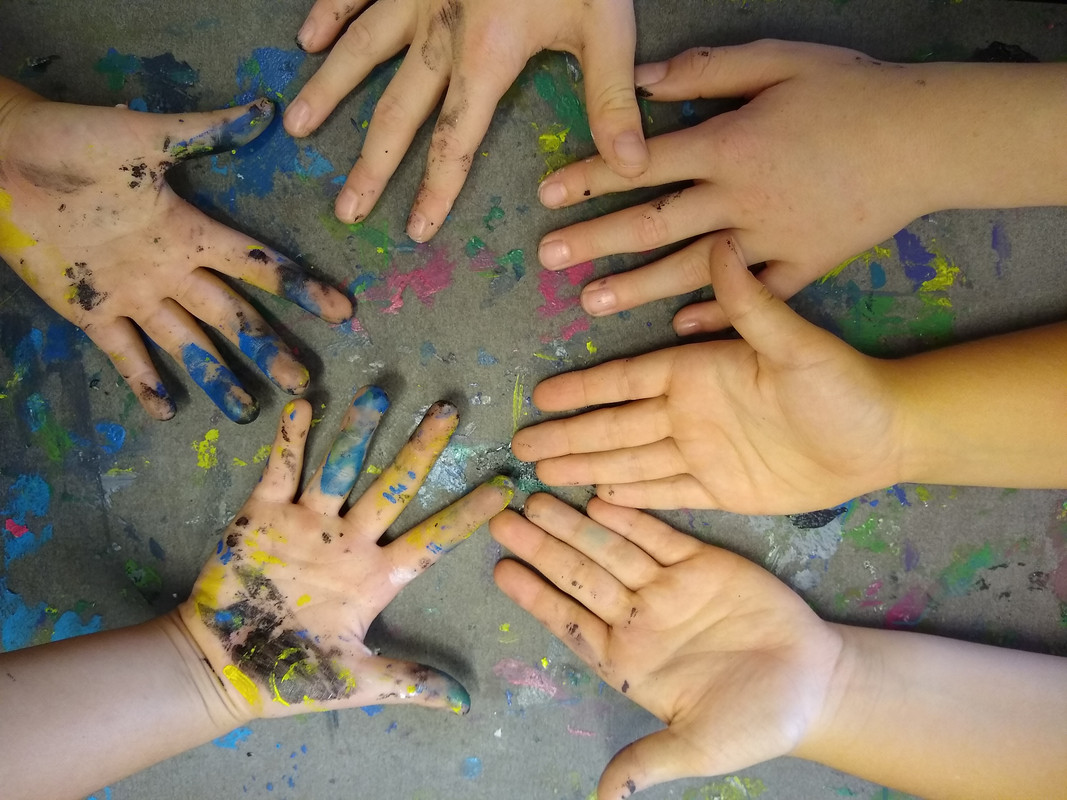
<svg viewBox="0 0 1067 800">
<path fill-rule="evenodd" d="M 758 353 L 789 358 L 819 331 L 749 272 L 734 237 L 712 238 L 707 268 L 719 308 Z"/>
</svg>

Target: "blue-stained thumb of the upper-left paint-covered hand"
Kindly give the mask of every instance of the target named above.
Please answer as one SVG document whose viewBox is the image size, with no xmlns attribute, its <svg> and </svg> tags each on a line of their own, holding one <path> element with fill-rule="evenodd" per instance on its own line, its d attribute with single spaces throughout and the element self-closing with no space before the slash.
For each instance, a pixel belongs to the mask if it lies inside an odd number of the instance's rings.
<svg viewBox="0 0 1067 800">
<path fill-rule="evenodd" d="M 260 97 L 248 106 L 193 114 L 155 117 L 160 163 L 177 163 L 194 156 L 232 150 L 262 133 L 274 118 L 274 103 Z M 168 163 L 169 162 L 169 163 Z"/>
</svg>

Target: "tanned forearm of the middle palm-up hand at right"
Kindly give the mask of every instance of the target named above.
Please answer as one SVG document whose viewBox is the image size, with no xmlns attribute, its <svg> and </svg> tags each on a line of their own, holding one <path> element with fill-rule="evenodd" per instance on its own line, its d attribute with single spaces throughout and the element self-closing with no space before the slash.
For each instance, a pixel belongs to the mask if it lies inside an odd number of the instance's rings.
<svg viewBox="0 0 1067 800">
<path fill-rule="evenodd" d="M 887 362 L 901 481 L 1067 487 L 1067 323 Z"/>
</svg>

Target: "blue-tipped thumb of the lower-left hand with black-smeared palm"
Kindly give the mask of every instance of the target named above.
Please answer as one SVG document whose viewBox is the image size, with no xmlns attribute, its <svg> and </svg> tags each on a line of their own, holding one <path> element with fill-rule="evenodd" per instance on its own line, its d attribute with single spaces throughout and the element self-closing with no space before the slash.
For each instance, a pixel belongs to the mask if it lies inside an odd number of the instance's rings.
<svg viewBox="0 0 1067 800">
<path fill-rule="evenodd" d="M 411 703 L 427 708 L 447 708 L 452 714 L 471 710 L 471 695 L 451 675 L 414 661 L 370 656 L 352 678 L 355 687 L 346 705 L 396 705 Z"/>
</svg>

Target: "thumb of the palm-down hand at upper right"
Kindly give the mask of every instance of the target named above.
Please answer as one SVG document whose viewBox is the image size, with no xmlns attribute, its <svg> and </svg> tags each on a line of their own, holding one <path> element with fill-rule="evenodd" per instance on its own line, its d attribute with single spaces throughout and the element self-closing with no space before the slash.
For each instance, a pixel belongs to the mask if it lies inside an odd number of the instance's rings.
<svg viewBox="0 0 1067 800">
<path fill-rule="evenodd" d="M 796 75 L 798 49 L 794 43 L 774 39 L 695 47 L 669 61 L 638 65 L 634 82 L 642 96 L 659 101 L 752 97 Z"/>
</svg>

